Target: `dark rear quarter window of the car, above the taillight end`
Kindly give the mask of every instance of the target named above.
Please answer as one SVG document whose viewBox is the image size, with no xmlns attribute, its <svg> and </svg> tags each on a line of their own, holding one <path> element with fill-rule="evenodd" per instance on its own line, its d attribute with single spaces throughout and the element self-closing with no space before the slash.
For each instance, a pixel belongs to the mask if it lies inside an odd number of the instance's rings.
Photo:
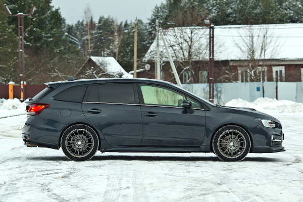
<svg viewBox="0 0 303 202">
<path fill-rule="evenodd" d="M 66 102 L 81 103 L 85 94 L 87 85 L 77 85 L 67 88 L 57 94 L 54 99 Z"/>
</svg>

